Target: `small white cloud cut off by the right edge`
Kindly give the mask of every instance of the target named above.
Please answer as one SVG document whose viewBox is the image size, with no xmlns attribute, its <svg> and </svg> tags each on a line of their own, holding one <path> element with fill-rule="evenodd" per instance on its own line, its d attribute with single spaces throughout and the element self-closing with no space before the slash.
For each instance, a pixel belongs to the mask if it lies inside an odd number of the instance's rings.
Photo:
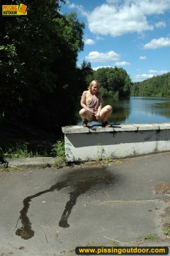
<svg viewBox="0 0 170 256">
<path fill-rule="evenodd" d="M 170 39 L 169 38 L 159 38 L 159 39 L 152 39 L 149 43 L 146 43 L 144 49 L 157 49 L 162 47 L 170 46 Z"/>
</svg>

